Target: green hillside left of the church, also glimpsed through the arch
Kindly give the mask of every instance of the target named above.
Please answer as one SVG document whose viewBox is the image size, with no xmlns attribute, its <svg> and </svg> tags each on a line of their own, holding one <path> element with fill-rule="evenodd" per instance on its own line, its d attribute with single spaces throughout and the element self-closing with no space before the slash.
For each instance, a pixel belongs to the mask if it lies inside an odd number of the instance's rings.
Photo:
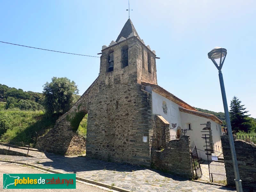
<svg viewBox="0 0 256 192">
<path fill-rule="evenodd" d="M 72 102 L 79 99 L 74 95 Z M 32 135 L 42 136 L 54 127 L 60 113 L 46 114 L 43 93 L 24 92 L 22 89 L 0 84 L 0 141 L 33 143 Z M 87 115 L 81 121 L 77 133 L 86 137 Z"/>
</svg>

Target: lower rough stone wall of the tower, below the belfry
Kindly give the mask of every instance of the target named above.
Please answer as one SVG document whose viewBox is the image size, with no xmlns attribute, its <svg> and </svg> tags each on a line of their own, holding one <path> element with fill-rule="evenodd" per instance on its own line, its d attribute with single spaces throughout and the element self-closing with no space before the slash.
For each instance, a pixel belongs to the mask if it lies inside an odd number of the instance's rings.
<svg viewBox="0 0 256 192">
<path fill-rule="evenodd" d="M 150 137 L 151 94 L 137 83 L 100 84 L 100 92 L 89 102 L 86 156 L 149 166 L 149 140 L 143 136 Z"/>
</svg>

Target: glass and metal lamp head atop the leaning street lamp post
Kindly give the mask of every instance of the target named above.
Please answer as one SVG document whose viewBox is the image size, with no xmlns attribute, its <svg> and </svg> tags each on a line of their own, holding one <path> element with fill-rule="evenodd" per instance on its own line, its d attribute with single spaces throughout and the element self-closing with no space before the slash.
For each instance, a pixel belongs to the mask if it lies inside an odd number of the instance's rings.
<svg viewBox="0 0 256 192">
<path fill-rule="evenodd" d="M 212 51 L 208 53 L 208 58 L 212 60 L 213 64 L 217 69 L 221 69 L 224 63 L 224 60 L 227 55 L 227 49 L 221 47 L 215 47 Z"/>
</svg>

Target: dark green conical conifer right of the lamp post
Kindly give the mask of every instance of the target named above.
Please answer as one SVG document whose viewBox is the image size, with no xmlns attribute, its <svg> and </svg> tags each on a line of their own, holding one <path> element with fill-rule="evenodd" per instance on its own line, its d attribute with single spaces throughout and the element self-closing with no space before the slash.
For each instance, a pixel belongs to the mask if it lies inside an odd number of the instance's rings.
<svg viewBox="0 0 256 192">
<path fill-rule="evenodd" d="M 231 100 L 229 111 L 231 127 L 236 132 L 239 130 L 248 132 L 251 127 L 250 119 L 248 118 L 250 115 L 245 115 L 248 111 L 245 111 L 246 108 L 241 105 L 241 102 L 236 96 Z"/>
</svg>

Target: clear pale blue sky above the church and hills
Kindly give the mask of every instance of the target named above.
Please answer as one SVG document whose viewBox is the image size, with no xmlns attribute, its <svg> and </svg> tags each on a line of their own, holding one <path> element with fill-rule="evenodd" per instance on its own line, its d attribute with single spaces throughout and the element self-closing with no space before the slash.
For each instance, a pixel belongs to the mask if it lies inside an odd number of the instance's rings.
<svg viewBox="0 0 256 192">
<path fill-rule="evenodd" d="M 0 0 L 0 41 L 99 56 L 128 19 L 124 0 Z M 207 53 L 228 51 L 222 73 L 228 105 L 234 96 L 256 117 L 256 1 L 130 0 L 130 19 L 156 51 L 158 85 L 188 104 L 223 112 L 218 70 Z M 82 95 L 100 58 L 0 43 L 0 83 L 42 92 L 53 76 L 68 77 Z"/>
</svg>

